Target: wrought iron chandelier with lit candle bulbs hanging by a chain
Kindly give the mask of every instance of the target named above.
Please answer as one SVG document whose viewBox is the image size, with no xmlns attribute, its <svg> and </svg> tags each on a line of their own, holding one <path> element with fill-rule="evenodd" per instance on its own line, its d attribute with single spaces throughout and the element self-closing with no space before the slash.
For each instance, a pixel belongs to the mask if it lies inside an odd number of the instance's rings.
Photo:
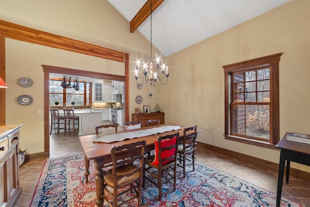
<svg viewBox="0 0 310 207">
<path fill-rule="evenodd" d="M 167 82 L 168 82 L 168 77 L 169 77 L 168 66 L 166 66 L 164 64 L 160 65 L 160 60 L 158 57 L 156 58 L 155 70 L 153 69 L 153 63 L 152 63 L 152 53 L 153 53 L 152 12 L 153 11 L 152 11 L 152 0 L 151 0 L 151 59 L 150 59 L 151 63 L 150 63 L 149 69 L 147 69 L 147 64 L 143 64 L 143 68 L 141 69 L 140 68 L 140 61 L 137 60 L 137 66 L 136 66 L 136 70 L 135 70 L 135 79 L 136 79 L 137 87 L 142 86 L 142 84 L 144 83 L 144 80 L 146 83 L 150 82 L 150 84 L 153 85 L 154 87 L 155 87 L 157 79 L 163 85 L 167 84 Z M 161 70 L 159 70 L 160 66 L 161 66 Z M 142 73 L 142 74 L 139 76 L 140 73 Z M 161 73 L 161 75 L 160 75 L 160 73 Z M 166 77 L 166 82 L 163 81 L 165 79 L 165 77 Z M 142 82 L 139 82 L 138 78 L 142 79 Z"/>
</svg>

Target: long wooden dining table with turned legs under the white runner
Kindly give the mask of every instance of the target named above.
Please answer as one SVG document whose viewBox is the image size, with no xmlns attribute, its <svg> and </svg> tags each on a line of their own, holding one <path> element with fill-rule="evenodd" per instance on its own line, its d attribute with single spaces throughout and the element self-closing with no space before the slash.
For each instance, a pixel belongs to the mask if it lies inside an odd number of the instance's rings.
<svg viewBox="0 0 310 207">
<path fill-rule="evenodd" d="M 140 132 L 140 130 L 145 129 L 152 129 L 155 127 L 170 127 L 170 126 L 179 126 L 179 129 L 175 129 L 172 131 L 166 131 L 166 132 L 160 132 L 157 134 L 149 135 L 149 136 L 142 136 L 142 137 L 136 137 L 132 139 L 124 139 L 122 141 L 116 141 L 116 142 L 98 142 L 98 139 L 102 138 L 103 136 L 107 136 L 109 134 L 122 134 L 124 133 L 124 138 L 126 137 L 126 132 L 132 132 L 135 131 L 137 134 Z M 93 160 L 94 161 L 94 168 L 95 168 L 95 188 L 96 188 L 96 206 L 97 207 L 103 207 L 102 202 L 102 194 L 103 194 L 103 168 L 105 163 L 110 163 L 112 161 L 111 158 L 111 148 L 112 146 L 120 146 L 124 144 L 134 143 L 141 140 L 145 140 L 146 142 L 146 148 L 145 152 L 149 152 L 155 149 L 155 141 L 157 140 L 158 136 L 165 136 L 170 135 L 172 133 L 180 133 L 180 140 L 183 139 L 183 129 L 186 127 L 192 127 L 192 126 L 181 126 L 177 124 L 162 124 L 162 125 L 155 125 L 150 127 L 141 127 L 138 129 L 130 129 L 130 130 L 120 130 L 117 132 L 110 132 L 110 133 L 99 133 L 99 134 L 91 134 L 91 135 L 85 135 L 80 136 L 79 140 L 81 142 L 83 151 L 85 153 L 85 160 Z M 201 132 L 201 129 L 197 129 L 197 134 Z M 134 156 L 139 154 L 140 151 L 137 149 L 137 151 L 132 151 L 131 154 L 128 154 L 128 157 Z M 85 175 L 89 175 L 89 166 L 85 166 Z"/>
</svg>

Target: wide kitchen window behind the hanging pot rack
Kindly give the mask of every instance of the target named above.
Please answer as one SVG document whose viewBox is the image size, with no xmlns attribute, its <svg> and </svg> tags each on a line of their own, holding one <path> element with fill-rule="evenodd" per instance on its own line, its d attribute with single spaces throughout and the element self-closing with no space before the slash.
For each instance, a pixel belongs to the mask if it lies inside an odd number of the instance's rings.
<svg viewBox="0 0 310 207">
<path fill-rule="evenodd" d="M 61 83 L 62 80 L 49 80 L 49 106 L 56 106 L 56 101 L 59 102 L 60 106 L 63 106 L 63 103 L 71 106 L 73 101 L 75 102 L 74 106 L 90 105 L 91 83 L 80 81 L 78 91 L 74 88 L 63 89 Z"/>
</svg>

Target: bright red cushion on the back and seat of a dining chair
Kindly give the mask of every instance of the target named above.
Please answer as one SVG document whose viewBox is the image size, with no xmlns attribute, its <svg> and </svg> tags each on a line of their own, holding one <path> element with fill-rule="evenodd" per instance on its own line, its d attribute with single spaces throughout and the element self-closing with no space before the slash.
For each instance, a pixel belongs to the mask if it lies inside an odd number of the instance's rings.
<svg viewBox="0 0 310 207">
<path fill-rule="evenodd" d="M 167 146 L 171 146 L 173 144 L 176 143 L 176 138 L 177 137 L 174 137 L 170 140 L 162 140 L 161 141 L 161 148 L 163 147 L 167 147 Z M 159 152 L 159 148 L 158 148 L 158 142 L 155 141 L 155 159 L 154 161 L 152 162 L 153 165 L 158 165 L 159 163 L 159 159 L 158 159 L 158 152 Z M 161 152 L 161 159 L 165 159 L 165 158 L 169 158 L 171 157 L 173 154 L 175 153 L 175 148 L 172 148 L 171 150 L 165 150 L 165 151 L 162 151 Z M 162 162 L 161 164 L 166 164 L 168 162 L 170 162 L 170 160 L 165 160 L 164 162 Z"/>
</svg>

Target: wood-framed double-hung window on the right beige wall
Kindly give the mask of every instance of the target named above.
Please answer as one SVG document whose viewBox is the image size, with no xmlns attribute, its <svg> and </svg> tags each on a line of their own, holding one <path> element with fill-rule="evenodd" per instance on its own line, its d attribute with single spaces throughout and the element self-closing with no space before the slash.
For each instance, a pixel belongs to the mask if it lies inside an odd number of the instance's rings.
<svg viewBox="0 0 310 207">
<path fill-rule="evenodd" d="M 223 66 L 225 139 L 273 148 L 279 142 L 280 55 Z"/>
</svg>

